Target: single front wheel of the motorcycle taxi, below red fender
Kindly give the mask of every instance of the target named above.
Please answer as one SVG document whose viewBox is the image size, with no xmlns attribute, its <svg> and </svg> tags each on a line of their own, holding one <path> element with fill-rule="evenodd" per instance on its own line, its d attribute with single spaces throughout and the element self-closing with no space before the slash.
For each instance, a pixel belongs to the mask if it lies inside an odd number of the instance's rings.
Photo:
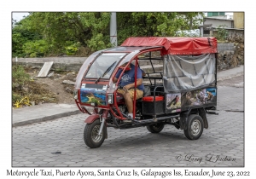
<svg viewBox="0 0 256 179">
<path fill-rule="evenodd" d="M 106 126 L 103 127 L 102 134 L 98 135 L 101 127 L 100 119 L 97 118 L 93 123 L 86 124 L 84 128 L 84 142 L 90 148 L 101 147 L 106 137 Z"/>
</svg>

